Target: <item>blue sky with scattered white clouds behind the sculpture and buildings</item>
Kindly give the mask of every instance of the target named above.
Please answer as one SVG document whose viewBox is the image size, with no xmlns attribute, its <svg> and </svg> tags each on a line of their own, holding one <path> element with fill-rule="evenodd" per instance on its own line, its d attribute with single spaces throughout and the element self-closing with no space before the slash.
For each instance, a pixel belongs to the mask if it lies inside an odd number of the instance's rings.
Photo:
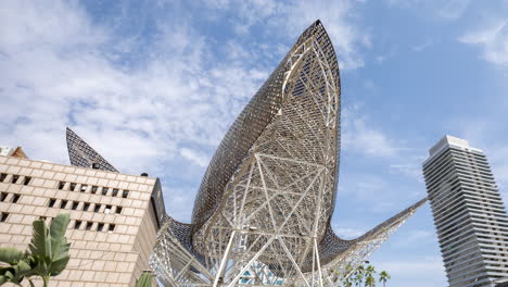
<svg viewBox="0 0 508 287">
<path fill-rule="evenodd" d="M 161 177 L 188 222 L 207 162 L 300 33 L 338 52 L 335 230 L 353 238 L 426 195 L 445 134 L 487 154 L 508 199 L 508 1 L 2 1 L 0 144 L 68 163 L 72 127 L 125 173 Z M 428 205 L 371 257 L 391 287 L 446 286 Z"/>
</svg>

